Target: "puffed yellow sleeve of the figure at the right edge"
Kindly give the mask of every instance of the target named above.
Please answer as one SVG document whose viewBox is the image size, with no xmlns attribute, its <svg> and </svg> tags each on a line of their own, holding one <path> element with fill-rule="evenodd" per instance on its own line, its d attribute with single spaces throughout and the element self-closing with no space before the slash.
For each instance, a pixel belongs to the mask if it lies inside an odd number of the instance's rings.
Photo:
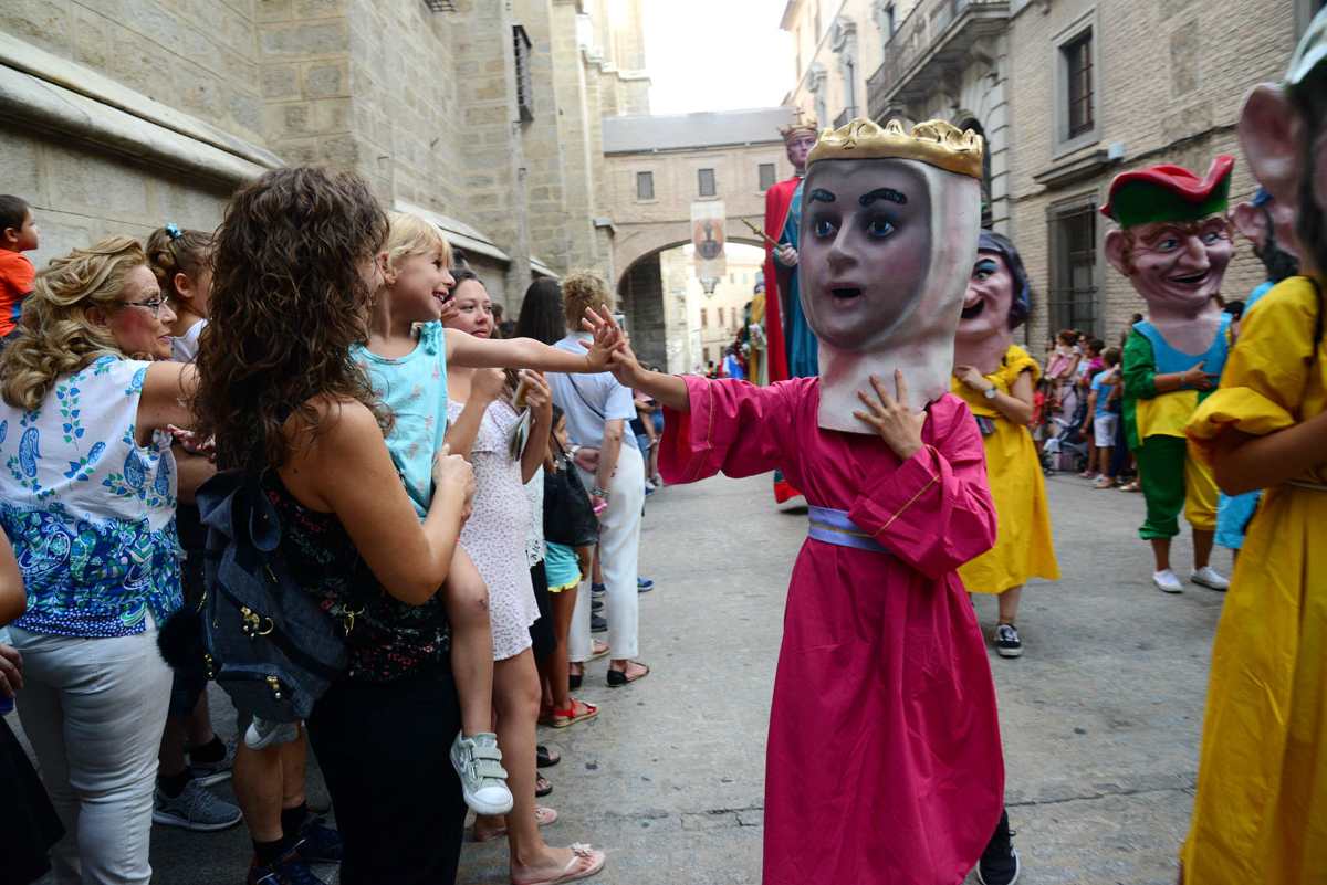
<svg viewBox="0 0 1327 885">
<path fill-rule="evenodd" d="M 1318 293 L 1291 277 L 1249 311 L 1221 375 L 1221 387 L 1194 412 L 1186 432 L 1200 446 L 1226 429 L 1266 436 L 1298 420 L 1314 362 Z"/>
</svg>

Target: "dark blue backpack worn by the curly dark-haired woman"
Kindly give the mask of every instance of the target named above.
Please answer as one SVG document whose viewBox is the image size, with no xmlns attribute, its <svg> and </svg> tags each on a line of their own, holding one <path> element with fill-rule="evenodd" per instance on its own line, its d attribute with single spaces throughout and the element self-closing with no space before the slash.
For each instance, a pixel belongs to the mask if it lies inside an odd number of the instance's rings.
<svg viewBox="0 0 1327 885">
<path fill-rule="evenodd" d="M 272 722 L 307 719 L 346 669 L 348 631 L 287 571 L 280 514 L 257 476 L 220 472 L 196 499 L 207 527 L 207 676 L 239 710 Z"/>
</svg>

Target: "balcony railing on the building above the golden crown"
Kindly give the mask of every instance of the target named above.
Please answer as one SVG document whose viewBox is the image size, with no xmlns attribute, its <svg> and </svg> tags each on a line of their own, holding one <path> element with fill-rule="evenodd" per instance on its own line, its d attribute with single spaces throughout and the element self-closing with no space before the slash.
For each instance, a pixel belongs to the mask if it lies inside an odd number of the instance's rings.
<svg viewBox="0 0 1327 885">
<path fill-rule="evenodd" d="M 890 99 L 925 66 L 937 50 L 949 48 L 954 37 L 967 36 L 951 48 L 950 61 L 961 65 L 961 56 L 973 41 L 991 33 L 991 23 L 1002 29 L 1009 19 L 1009 0 L 922 0 L 885 44 L 885 61 L 867 79 L 872 117 L 881 117 Z M 970 24 L 981 28 L 970 29 Z"/>
</svg>

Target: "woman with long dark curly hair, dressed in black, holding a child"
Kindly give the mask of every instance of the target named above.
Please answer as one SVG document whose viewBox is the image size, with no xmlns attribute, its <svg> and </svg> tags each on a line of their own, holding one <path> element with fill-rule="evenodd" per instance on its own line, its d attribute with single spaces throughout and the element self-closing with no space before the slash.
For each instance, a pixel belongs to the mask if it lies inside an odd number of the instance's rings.
<svg viewBox="0 0 1327 885">
<path fill-rule="evenodd" d="M 345 841 L 341 881 L 433 885 L 455 881 L 464 820 L 437 591 L 474 477 L 443 450 L 421 521 L 384 441 L 389 419 L 350 358 L 386 234 L 352 174 L 285 168 L 239 191 L 216 234 L 195 409 L 219 466 L 260 477 L 304 590 L 356 615 L 349 669 L 308 722 Z"/>
</svg>

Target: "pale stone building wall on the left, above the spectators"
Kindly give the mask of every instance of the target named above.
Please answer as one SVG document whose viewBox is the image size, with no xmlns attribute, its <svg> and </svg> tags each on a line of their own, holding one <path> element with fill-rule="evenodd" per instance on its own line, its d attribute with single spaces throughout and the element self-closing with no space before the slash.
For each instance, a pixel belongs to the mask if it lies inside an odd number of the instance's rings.
<svg viewBox="0 0 1327 885">
<path fill-rule="evenodd" d="M 608 274 L 601 118 L 648 113 L 642 0 L 0 4 L 5 189 L 45 258 L 165 221 L 211 229 L 264 170 L 364 175 L 438 223 L 498 301 Z"/>
</svg>

